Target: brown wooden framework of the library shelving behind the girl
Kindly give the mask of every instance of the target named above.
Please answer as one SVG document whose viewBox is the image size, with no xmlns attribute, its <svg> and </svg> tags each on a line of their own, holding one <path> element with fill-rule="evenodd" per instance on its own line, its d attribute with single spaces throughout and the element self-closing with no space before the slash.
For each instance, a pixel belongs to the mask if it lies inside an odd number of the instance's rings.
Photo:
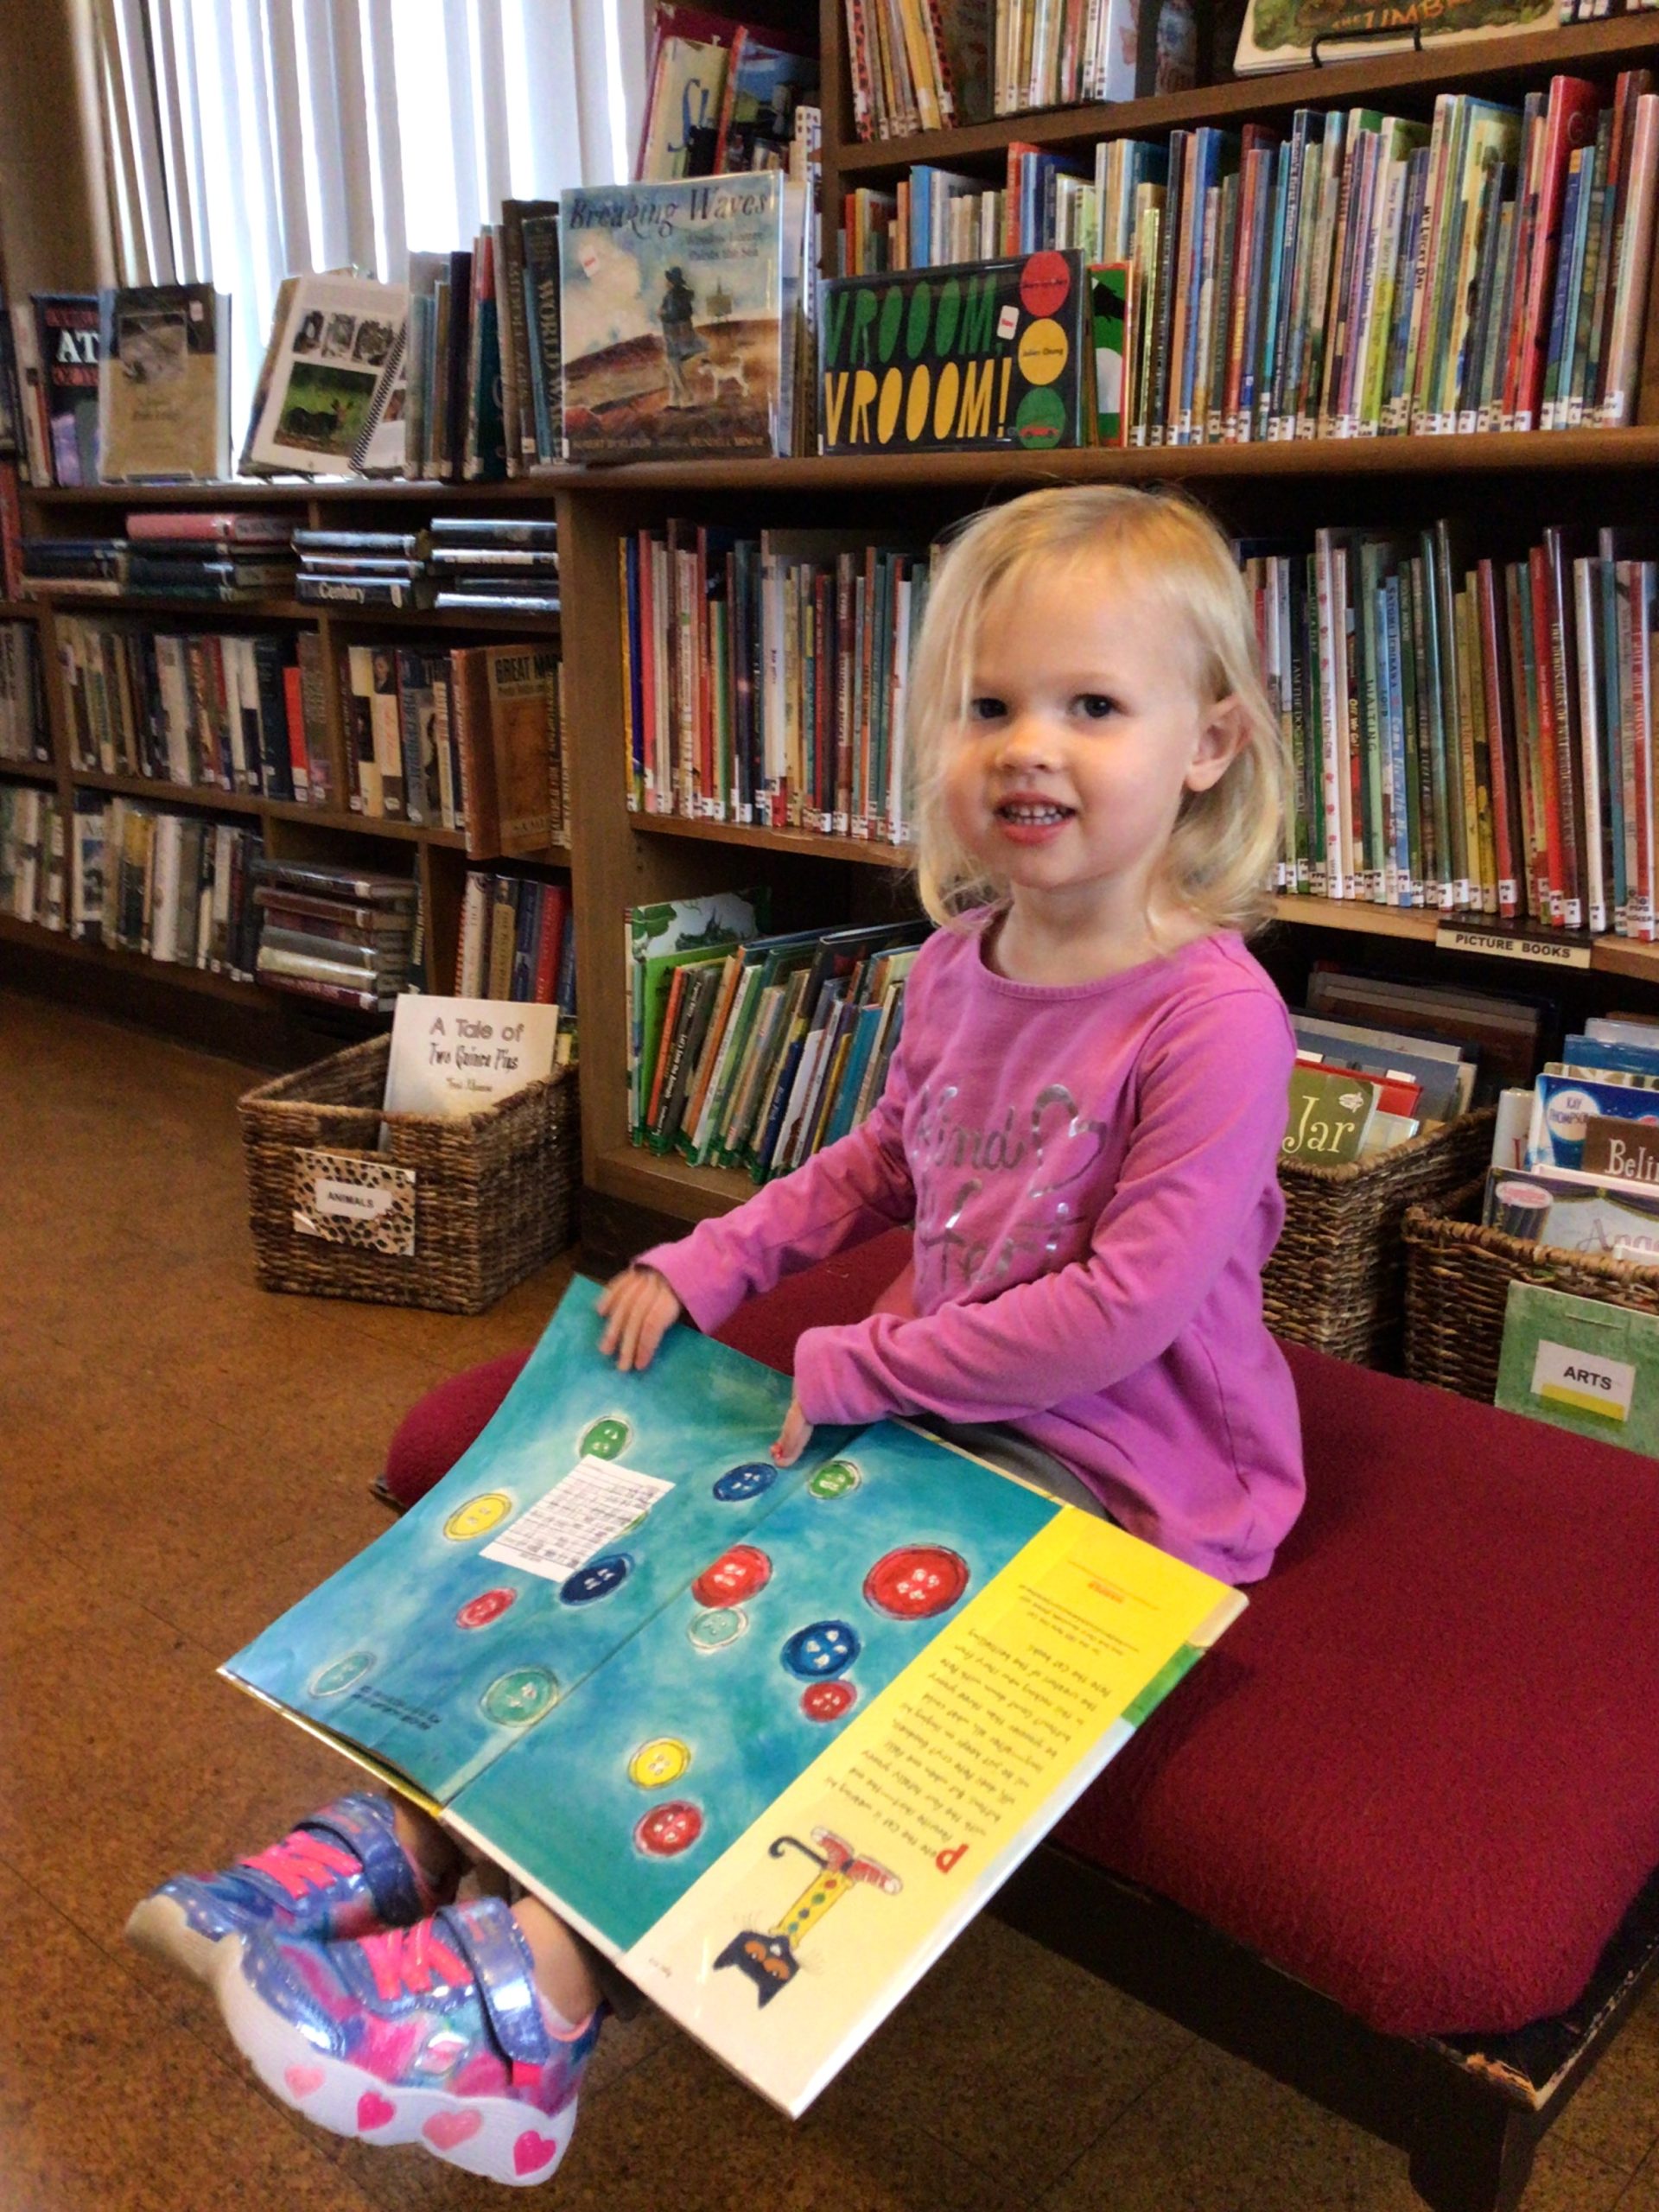
<svg viewBox="0 0 1659 2212">
<path fill-rule="evenodd" d="M 825 58 L 823 228 L 830 270 L 834 270 L 843 190 L 854 184 L 891 184 L 920 159 L 980 173 L 993 181 L 1004 168 L 1011 139 L 1082 150 L 1110 135 L 1164 133 L 1197 122 L 1285 117 L 1301 104 L 1340 106 L 1356 100 L 1429 115 L 1440 91 L 1517 95 L 1522 88 L 1544 86 L 1557 71 L 1590 75 L 1610 86 L 1619 69 L 1641 62 L 1659 66 L 1659 15 L 1632 13 L 1478 44 L 1431 42 L 1425 53 L 1343 60 L 1323 69 L 1210 84 L 1172 97 L 1011 115 L 960 131 L 860 144 L 852 128 L 843 7 L 845 0 L 821 0 L 818 15 Z M 810 20 L 807 7 L 799 0 L 794 7 L 790 0 L 774 0 L 772 7 L 754 11 L 796 24 Z M 1648 312 L 1637 427 L 1621 431 L 1082 449 L 1042 456 L 907 453 L 856 460 L 637 462 L 555 469 L 504 484 L 354 480 L 170 491 L 97 487 L 33 491 L 24 493 L 24 500 L 29 529 L 60 533 L 117 529 L 128 509 L 159 500 L 197 507 L 268 502 L 292 511 L 296 520 L 369 529 L 398 526 L 394 518 L 418 522 L 434 513 L 460 511 L 557 515 L 562 622 L 542 624 L 542 635 L 557 635 L 566 664 L 573 843 L 568 854 L 549 852 L 544 858 L 551 865 L 568 865 L 577 927 L 584 1230 L 593 1225 L 597 1245 L 619 1252 L 637 1248 L 641 1232 L 653 1223 L 664 1219 L 686 1223 L 721 1212 L 750 1190 L 748 1179 L 730 1170 L 690 1168 L 628 1144 L 624 909 L 655 898 L 765 883 L 772 889 L 776 925 L 803 927 L 878 918 L 905 909 L 911 896 L 905 854 L 885 845 L 628 812 L 619 584 L 624 533 L 677 515 L 743 529 L 765 524 L 878 529 L 889 538 L 909 533 L 916 542 L 927 542 L 940 524 L 987 500 L 1051 482 L 1177 482 L 1243 535 L 1312 533 L 1325 522 L 1416 526 L 1444 513 L 1478 526 L 1482 553 L 1520 551 L 1546 522 L 1648 520 L 1659 495 L 1659 285 L 1652 288 Z M 95 599 L 80 602 L 80 608 L 100 611 L 111 604 Z M 137 608 L 139 602 L 128 606 Z M 155 613 L 155 602 L 142 606 Z M 55 681 L 53 604 L 0 608 L 0 615 L 4 613 L 24 613 L 42 626 L 55 745 L 51 774 L 60 790 L 71 796 L 77 783 L 108 781 L 80 776 L 69 768 Z M 192 608 L 188 619 L 226 628 L 243 622 L 314 622 L 325 644 L 392 630 L 434 637 L 451 628 L 478 637 L 538 635 L 538 628 L 522 617 L 500 617 L 495 624 L 440 615 L 389 617 L 376 611 L 347 617 L 281 604 L 254 611 Z M 332 659 L 334 655 L 325 653 L 330 728 L 338 745 Z M 150 783 L 139 783 L 135 790 L 164 803 L 226 810 L 226 794 L 219 792 L 175 792 Z M 429 973 L 434 989 L 442 989 L 453 973 L 458 898 L 465 880 L 465 856 L 453 834 L 365 823 L 356 814 L 323 814 L 270 801 L 243 801 L 241 807 L 263 821 L 270 849 L 279 854 L 356 854 L 363 860 L 385 860 L 396 845 L 414 843 L 427 891 Z M 1548 982 L 1555 991 L 1577 993 L 1590 1006 L 1619 1000 L 1659 1006 L 1655 945 L 1601 938 L 1588 947 L 1588 967 L 1564 971 L 1548 956 L 1528 964 L 1444 951 L 1436 945 L 1438 916 L 1422 909 L 1283 898 L 1279 920 L 1283 927 L 1270 940 L 1265 958 L 1290 989 L 1305 973 L 1310 958 L 1354 956 L 1365 947 L 1376 951 L 1376 940 L 1383 938 L 1389 940 L 1389 962 L 1413 973 L 1460 975 L 1522 989 Z M 15 925 L 0 929 L 7 936 L 18 933 Z M 42 931 L 27 936 L 71 958 L 84 953 L 86 969 L 104 962 L 115 962 L 122 971 L 150 967 L 62 947 L 62 940 Z M 246 984 L 190 978 L 175 969 L 157 973 L 186 984 L 212 984 L 219 993 L 234 993 L 248 1004 L 265 1004 L 274 995 Z"/>
</svg>

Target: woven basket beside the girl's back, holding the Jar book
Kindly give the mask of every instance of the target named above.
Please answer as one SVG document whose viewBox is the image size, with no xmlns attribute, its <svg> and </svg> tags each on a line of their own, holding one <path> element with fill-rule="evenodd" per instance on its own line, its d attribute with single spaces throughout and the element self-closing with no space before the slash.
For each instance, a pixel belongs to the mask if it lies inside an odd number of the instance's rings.
<svg viewBox="0 0 1659 2212">
<path fill-rule="evenodd" d="M 1267 1327 L 1358 1367 L 1398 1367 L 1405 1210 L 1467 1183 L 1491 1155 L 1493 1110 L 1462 1115 L 1376 1159 L 1281 1159 L 1285 1230 L 1263 1274 Z"/>
</svg>

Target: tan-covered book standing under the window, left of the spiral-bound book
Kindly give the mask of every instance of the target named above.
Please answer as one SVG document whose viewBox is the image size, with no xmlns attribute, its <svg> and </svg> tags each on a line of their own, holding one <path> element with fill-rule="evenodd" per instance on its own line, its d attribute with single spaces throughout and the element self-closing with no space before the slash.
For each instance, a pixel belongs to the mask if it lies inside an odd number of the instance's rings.
<svg viewBox="0 0 1659 2212">
<path fill-rule="evenodd" d="M 100 294 L 100 473 L 168 482 L 230 473 L 230 299 L 206 283 Z"/>
</svg>

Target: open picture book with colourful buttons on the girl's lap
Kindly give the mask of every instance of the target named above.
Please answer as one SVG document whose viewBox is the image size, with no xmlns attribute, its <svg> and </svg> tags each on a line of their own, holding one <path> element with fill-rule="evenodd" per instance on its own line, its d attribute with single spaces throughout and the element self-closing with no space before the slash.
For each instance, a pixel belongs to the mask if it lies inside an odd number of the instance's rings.
<svg viewBox="0 0 1659 2212">
<path fill-rule="evenodd" d="M 617 1374 L 593 1296 L 223 1672 L 796 2115 L 1243 1597 L 894 1422 L 779 1469 L 785 1376 L 690 1329 Z"/>
</svg>

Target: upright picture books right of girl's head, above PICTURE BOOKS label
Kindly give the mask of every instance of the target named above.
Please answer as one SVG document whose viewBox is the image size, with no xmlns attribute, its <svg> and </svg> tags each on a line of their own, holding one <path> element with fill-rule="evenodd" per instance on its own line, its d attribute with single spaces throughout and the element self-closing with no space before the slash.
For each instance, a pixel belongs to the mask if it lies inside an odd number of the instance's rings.
<svg viewBox="0 0 1659 2212">
<path fill-rule="evenodd" d="M 1281 889 L 1652 942 L 1650 533 L 1449 524 L 1248 551 L 1294 763 Z"/>
</svg>

